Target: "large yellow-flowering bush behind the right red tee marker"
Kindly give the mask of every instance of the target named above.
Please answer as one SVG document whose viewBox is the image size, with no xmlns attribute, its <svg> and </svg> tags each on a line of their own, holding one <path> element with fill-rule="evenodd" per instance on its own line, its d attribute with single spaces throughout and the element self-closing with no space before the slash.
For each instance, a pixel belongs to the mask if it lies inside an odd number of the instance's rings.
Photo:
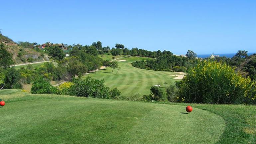
<svg viewBox="0 0 256 144">
<path fill-rule="evenodd" d="M 211 104 L 255 104 L 256 87 L 250 78 L 216 61 L 201 61 L 188 70 L 180 88 L 180 101 Z"/>
</svg>

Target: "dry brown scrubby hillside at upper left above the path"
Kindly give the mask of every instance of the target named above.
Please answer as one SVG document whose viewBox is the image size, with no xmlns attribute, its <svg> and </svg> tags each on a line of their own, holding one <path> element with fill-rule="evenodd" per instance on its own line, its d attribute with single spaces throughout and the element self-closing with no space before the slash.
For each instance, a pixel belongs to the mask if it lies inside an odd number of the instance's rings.
<svg viewBox="0 0 256 144">
<path fill-rule="evenodd" d="M 26 46 L 25 44 L 17 44 L 2 34 L 0 34 L 0 42 L 4 43 L 5 48 L 12 53 L 15 64 L 49 60 L 48 55 L 44 51 Z"/>
</svg>

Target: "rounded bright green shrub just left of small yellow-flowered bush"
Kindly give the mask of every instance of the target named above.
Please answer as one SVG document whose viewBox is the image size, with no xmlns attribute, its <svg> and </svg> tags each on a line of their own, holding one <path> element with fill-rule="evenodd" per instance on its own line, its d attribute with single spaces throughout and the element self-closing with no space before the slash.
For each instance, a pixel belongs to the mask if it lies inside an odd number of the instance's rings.
<svg viewBox="0 0 256 144">
<path fill-rule="evenodd" d="M 47 80 L 40 78 L 33 82 L 32 94 L 58 94 L 56 87 L 53 87 Z"/>
</svg>

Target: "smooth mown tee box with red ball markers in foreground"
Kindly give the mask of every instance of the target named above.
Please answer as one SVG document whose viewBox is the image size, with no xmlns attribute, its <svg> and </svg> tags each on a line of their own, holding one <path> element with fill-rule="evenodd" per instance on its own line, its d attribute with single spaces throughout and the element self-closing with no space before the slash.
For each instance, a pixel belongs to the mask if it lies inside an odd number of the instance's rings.
<svg viewBox="0 0 256 144">
<path fill-rule="evenodd" d="M 181 113 L 185 106 L 57 95 L 22 99 L 0 108 L 1 142 L 215 143 L 225 128 L 220 116 L 197 108 Z"/>
</svg>

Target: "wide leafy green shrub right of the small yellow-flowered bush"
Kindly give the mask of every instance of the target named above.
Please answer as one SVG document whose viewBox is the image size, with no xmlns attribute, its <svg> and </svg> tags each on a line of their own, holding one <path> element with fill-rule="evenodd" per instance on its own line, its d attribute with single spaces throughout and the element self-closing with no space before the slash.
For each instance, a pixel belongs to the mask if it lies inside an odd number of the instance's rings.
<svg viewBox="0 0 256 144">
<path fill-rule="evenodd" d="M 104 79 L 98 80 L 91 77 L 73 79 L 69 95 L 77 97 L 109 98 L 109 88 L 105 86 Z"/>
</svg>

